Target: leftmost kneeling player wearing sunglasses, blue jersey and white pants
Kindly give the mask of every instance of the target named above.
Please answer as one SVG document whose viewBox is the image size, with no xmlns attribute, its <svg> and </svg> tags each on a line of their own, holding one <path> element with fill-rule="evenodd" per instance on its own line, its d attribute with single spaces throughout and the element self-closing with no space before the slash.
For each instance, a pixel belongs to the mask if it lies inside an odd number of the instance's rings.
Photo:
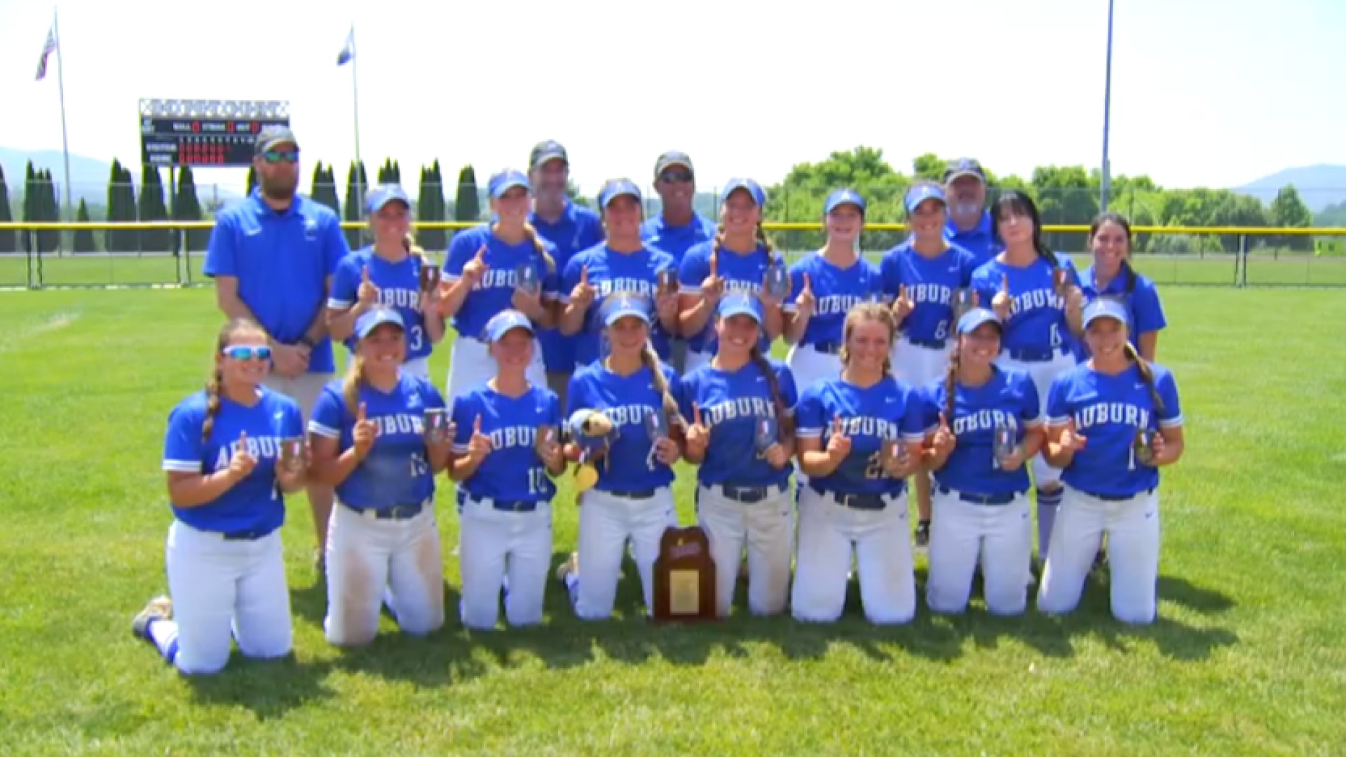
<svg viewBox="0 0 1346 757">
<path fill-rule="evenodd" d="M 183 673 L 221 671 L 232 640 L 249 657 L 291 649 L 281 494 L 304 488 L 304 422 L 295 400 L 261 385 L 267 339 L 253 321 L 225 323 L 210 383 L 168 416 L 170 597 L 152 599 L 132 630 Z M 296 465 L 279 465 L 296 439 Z"/>
</svg>

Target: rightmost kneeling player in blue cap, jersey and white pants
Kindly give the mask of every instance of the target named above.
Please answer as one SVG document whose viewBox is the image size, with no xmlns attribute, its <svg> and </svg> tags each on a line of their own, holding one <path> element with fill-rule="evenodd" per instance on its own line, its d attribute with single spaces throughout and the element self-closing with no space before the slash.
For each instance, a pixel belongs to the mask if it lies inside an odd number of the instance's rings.
<svg viewBox="0 0 1346 757">
<path fill-rule="evenodd" d="M 1136 354 L 1127 310 L 1100 299 L 1085 308 L 1093 357 L 1051 384 L 1047 457 L 1066 490 L 1051 535 L 1038 609 L 1069 613 L 1104 535 L 1112 614 L 1155 620 L 1159 579 L 1159 469 L 1183 453 L 1183 419 L 1172 373 Z"/>
</svg>

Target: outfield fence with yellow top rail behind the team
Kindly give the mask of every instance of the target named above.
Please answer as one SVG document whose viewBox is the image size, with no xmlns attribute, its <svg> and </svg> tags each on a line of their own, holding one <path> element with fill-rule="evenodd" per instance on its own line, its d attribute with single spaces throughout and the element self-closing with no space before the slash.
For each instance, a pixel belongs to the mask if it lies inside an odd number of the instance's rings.
<svg viewBox="0 0 1346 757">
<path fill-rule="evenodd" d="M 24 252 L 0 255 L 0 290 L 114 288 L 114 287 L 195 287 L 209 286 L 201 272 L 211 221 L 195 222 L 5 222 L 0 230 L 15 229 L 23 238 Z M 460 230 L 479 222 L 423 222 L 417 230 Z M 363 230 L 362 222 L 342 224 L 349 230 Z M 794 260 L 822 241 L 818 222 L 763 224 L 775 246 Z M 159 232 L 164 249 L 136 252 L 71 253 L 50 240 L 93 230 Z M 871 259 L 902 238 L 905 224 L 865 225 L 861 246 Z M 1089 264 L 1084 225 L 1044 225 L 1057 240 L 1077 240 L 1058 245 L 1084 268 Z M 70 232 L 71 234 L 62 234 Z M 1343 245 L 1316 245 L 1319 252 L 1292 249 L 1315 246 L 1302 244 L 1306 237 L 1341 241 L 1346 228 L 1261 228 L 1261 226 L 1133 226 L 1137 240 L 1162 237 L 1166 252 L 1137 252 L 1132 256 L 1137 271 L 1159 284 L 1226 286 L 1226 287 L 1346 287 L 1346 255 L 1323 255 Z M 1292 240 L 1299 244 L 1283 244 Z M 367 240 L 366 240 L 367 241 Z M 188 244 L 190 242 L 190 244 Z M 1141 246 L 1141 245 L 1137 245 Z M 1232 252 L 1230 252 L 1232 251 Z M 429 249 L 441 256 L 443 249 Z"/>
</svg>

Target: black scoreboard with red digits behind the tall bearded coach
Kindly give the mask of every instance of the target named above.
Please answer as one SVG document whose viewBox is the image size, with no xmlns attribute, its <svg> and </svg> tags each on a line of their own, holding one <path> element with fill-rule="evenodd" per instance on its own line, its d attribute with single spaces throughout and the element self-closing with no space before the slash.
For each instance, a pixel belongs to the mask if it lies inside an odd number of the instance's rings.
<svg viewBox="0 0 1346 757">
<path fill-rule="evenodd" d="M 140 160 L 147 166 L 250 166 L 257 133 L 289 125 L 289 104 L 141 100 Z"/>
</svg>

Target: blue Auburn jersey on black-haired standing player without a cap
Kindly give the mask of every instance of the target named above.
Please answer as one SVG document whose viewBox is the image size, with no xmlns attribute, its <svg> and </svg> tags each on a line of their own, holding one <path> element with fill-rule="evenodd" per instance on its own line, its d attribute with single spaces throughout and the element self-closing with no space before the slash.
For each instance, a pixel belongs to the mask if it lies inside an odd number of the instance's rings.
<svg viewBox="0 0 1346 757">
<path fill-rule="evenodd" d="M 1070 256 L 1058 255 L 1057 260 L 1066 271 L 1067 283 L 1078 287 L 1079 275 Z M 1070 326 L 1066 323 L 1066 300 L 1057 296 L 1051 264 L 1043 257 L 1023 268 L 999 260 L 987 263 L 972 273 L 972 290 L 977 292 L 977 302 L 991 307 L 1007 275 L 1014 303 L 1010 306 L 1010 321 L 1005 322 L 1000 348 L 1007 353 L 1028 350 L 1043 356 L 1058 349 L 1074 349 Z"/>
</svg>

